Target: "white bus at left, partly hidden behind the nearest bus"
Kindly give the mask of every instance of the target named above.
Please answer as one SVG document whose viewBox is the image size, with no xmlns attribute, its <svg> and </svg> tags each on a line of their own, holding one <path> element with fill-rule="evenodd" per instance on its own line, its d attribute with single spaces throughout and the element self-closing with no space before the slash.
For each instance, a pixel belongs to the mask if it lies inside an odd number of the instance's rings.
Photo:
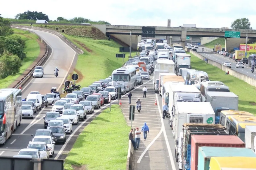
<svg viewBox="0 0 256 170">
<path fill-rule="evenodd" d="M 22 93 L 21 89 L 18 88 L 3 88 L 0 90 L 9 90 L 13 91 L 13 97 L 14 97 L 14 106 L 15 106 L 15 117 L 14 117 L 14 131 L 16 130 L 17 126 L 21 125 L 21 119 L 22 119 Z"/>
</svg>

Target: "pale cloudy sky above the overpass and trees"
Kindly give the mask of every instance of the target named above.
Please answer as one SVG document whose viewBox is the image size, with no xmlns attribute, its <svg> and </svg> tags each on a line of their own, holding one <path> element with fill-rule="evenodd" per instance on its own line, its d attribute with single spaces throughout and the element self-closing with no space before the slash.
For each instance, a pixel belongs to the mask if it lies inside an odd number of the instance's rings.
<svg viewBox="0 0 256 170">
<path fill-rule="evenodd" d="M 84 17 L 105 20 L 112 25 L 171 26 L 196 24 L 201 28 L 229 27 L 237 18 L 249 18 L 256 29 L 256 1 L 241 0 L 12 0 L 2 1 L 0 13 L 4 18 L 14 18 L 27 10 L 43 12 L 50 20 L 57 17 L 71 19 Z"/>
</svg>

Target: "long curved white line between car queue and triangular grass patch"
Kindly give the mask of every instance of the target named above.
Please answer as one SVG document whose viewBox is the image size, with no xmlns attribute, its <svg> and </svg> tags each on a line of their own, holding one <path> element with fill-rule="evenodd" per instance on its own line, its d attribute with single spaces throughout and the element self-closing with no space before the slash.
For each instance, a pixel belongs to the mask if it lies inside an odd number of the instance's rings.
<svg viewBox="0 0 256 170">
<path fill-rule="evenodd" d="M 147 81 L 146 83 L 148 83 L 148 82 L 150 82 L 150 81 L 152 81 L 152 79 L 149 80 L 149 81 Z M 146 83 L 143 83 L 143 85 L 140 85 L 140 86 L 137 87 L 137 88 L 140 88 L 141 86 L 144 86 Z M 134 88 L 134 89 L 137 89 L 137 88 Z M 131 90 L 131 91 L 133 91 L 133 90 Z M 121 96 L 121 98 L 124 97 L 124 96 L 126 96 L 126 95 L 128 95 L 128 93 L 125 94 L 125 95 L 123 95 L 123 96 Z M 116 100 L 114 100 L 114 101 L 111 101 L 111 103 L 114 103 L 114 102 L 116 102 L 116 101 L 118 101 L 118 99 L 116 99 Z M 63 150 L 65 149 L 65 147 L 67 146 L 68 142 L 70 141 L 70 139 L 71 139 L 71 138 L 74 136 L 74 134 L 84 125 L 84 123 L 86 123 L 87 120 L 89 120 L 93 115 L 95 115 L 97 112 L 101 111 L 102 109 L 104 109 L 104 108 L 107 107 L 107 106 L 109 106 L 109 104 L 107 104 L 106 106 L 101 107 L 100 109 L 98 109 L 96 112 L 94 112 L 92 115 L 90 115 L 90 117 L 87 117 L 87 119 L 86 119 L 85 121 L 83 121 L 83 122 L 72 132 L 72 134 L 68 137 L 68 139 L 66 140 L 65 144 L 61 147 L 60 151 L 58 152 L 58 154 L 56 155 L 56 157 L 55 157 L 54 159 L 58 159 L 58 158 L 60 157 L 60 155 L 62 154 Z"/>
</svg>

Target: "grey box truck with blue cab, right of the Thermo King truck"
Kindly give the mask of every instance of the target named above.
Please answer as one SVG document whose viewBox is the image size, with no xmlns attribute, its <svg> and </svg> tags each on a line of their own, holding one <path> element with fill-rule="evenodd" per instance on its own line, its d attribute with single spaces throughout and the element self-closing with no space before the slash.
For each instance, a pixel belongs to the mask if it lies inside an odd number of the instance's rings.
<svg viewBox="0 0 256 170">
<path fill-rule="evenodd" d="M 206 102 L 210 102 L 213 110 L 216 110 L 220 107 L 228 107 L 234 110 L 238 110 L 238 96 L 233 92 L 208 91 L 206 96 Z M 217 114 L 215 115 L 215 123 L 217 124 L 219 121 L 220 115 Z"/>
</svg>

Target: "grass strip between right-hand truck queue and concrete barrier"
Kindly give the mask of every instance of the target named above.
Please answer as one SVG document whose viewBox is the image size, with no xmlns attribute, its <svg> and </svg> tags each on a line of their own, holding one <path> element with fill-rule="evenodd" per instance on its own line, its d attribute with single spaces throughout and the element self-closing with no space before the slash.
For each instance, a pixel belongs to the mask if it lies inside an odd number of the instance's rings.
<svg viewBox="0 0 256 170">
<path fill-rule="evenodd" d="M 256 115 L 256 88 L 248 83 L 240 80 L 232 75 L 225 75 L 225 72 L 211 64 L 205 64 L 205 61 L 197 58 L 192 53 L 191 66 L 193 69 L 207 72 L 210 80 L 221 81 L 230 88 L 230 91 L 235 93 L 239 98 L 238 109 L 247 111 Z"/>
</svg>

